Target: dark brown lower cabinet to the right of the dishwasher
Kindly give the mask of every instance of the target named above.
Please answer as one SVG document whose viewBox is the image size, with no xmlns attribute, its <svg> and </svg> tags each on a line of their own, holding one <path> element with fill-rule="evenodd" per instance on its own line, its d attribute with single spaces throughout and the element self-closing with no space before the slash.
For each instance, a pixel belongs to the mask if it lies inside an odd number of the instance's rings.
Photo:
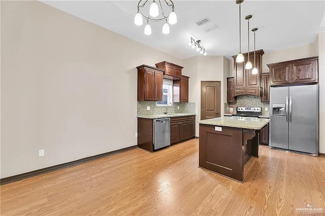
<svg viewBox="0 0 325 216">
<path fill-rule="evenodd" d="M 195 137 L 195 116 L 171 118 L 171 144 Z"/>
</svg>

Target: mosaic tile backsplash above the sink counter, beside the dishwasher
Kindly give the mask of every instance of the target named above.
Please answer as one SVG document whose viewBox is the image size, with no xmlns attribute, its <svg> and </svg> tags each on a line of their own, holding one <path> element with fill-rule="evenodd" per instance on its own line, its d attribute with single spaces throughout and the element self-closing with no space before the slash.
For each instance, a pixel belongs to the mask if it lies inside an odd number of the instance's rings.
<svg viewBox="0 0 325 216">
<path fill-rule="evenodd" d="M 147 110 L 147 106 L 150 106 L 150 110 Z M 177 109 L 178 107 L 179 109 Z M 156 106 L 156 102 L 154 101 L 138 101 L 138 116 L 164 114 L 164 112 L 166 112 L 166 106 Z M 170 114 L 192 113 L 195 115 L 195 103 L 173 103 L 173 106 L 167 107 L 167 112 Z"/>
</svg>

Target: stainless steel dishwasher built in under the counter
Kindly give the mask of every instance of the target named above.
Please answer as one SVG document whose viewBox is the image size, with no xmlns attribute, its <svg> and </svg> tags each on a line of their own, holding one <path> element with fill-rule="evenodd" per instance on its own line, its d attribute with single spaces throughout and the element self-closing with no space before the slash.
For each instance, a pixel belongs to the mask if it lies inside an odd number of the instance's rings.
<svg viewBox="0 0 325 216">
<path fill-rule="evenodd" d="M 171 119 L 153 120 L 153 149 L 157 150 L 171 145 Z"/>
</svg>

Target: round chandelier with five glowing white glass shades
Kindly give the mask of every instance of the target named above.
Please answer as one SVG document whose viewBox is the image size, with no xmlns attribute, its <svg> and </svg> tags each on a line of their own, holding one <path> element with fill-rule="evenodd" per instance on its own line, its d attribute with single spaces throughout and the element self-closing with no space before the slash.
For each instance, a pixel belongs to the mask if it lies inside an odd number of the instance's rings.
<svg viewBox="0 0 325 216">
<path fill-rule="evenodd" d="M 144 9 L 144 7 L 146 6 L 146 3 L 148 2 L 148 0 L 140 0 L 138 3 L 138 12 L 134 18 L 134 23 L 136 25 L 142 25 L 143 24 L 143 18 L 145 20 L 147 20 L 147 24 L 144 27 L 144 33 L 146 35 L 150 35 L 151 34 L 151 26 L 149 24 L 149 21 L 165 21 L 165 24 L 163 25 L 163 33 L 164 34 L 168 34 L 169 33 L 169 24 L 175 24 L 177 23 L 177 16 L 176 13 L 174 12 L 174 3 L 171 0 L 164 0 L 164 1 L 160 1 L 157 0 L 158 4 L 156 3 L 155 0 L 152 1 L 151 5 L 150 5 L 150 9 L 149 9 L 149 15 L 144 15 L 144 13 L 141 11 Z M 161 3 L 163 2 L 163 3 Z M 162 4 L 166 4 L 168 7 L 168 13 L 169 15 L 166 16 L 164 9 L 163 9 L 163 5 Z M 160 9 L 159 9 L 160 8 Z M 159 10 L 161 10 L 161 15 L 159 16 Z"/>
</svg>

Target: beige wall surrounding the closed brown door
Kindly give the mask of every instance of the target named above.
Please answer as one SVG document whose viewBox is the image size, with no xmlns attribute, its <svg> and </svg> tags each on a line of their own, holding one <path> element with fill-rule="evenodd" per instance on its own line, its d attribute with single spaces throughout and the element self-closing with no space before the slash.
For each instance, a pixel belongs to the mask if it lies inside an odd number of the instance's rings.
<svg viewBox="0 0 325 216">
<path fill-rule="evenodd" d="M 221 116 L 224 113 L 224 74 L 228 76 L 229 60 L 223 56 L 197 56 L 183 60 L 182 73 L 190 77 L 189 102 L 196 102 L 197 119 L 201 119 L 201 81 L 221 81 Z M 225 64 L 225 65 L 224 65 Z M 225 68 L 225 69 L 224 69 Z M 226 95 L 226 94 L 225 94 Z M 196 136 L 199 136 L 199 124 L 196 125 Z"/>
</svg>

